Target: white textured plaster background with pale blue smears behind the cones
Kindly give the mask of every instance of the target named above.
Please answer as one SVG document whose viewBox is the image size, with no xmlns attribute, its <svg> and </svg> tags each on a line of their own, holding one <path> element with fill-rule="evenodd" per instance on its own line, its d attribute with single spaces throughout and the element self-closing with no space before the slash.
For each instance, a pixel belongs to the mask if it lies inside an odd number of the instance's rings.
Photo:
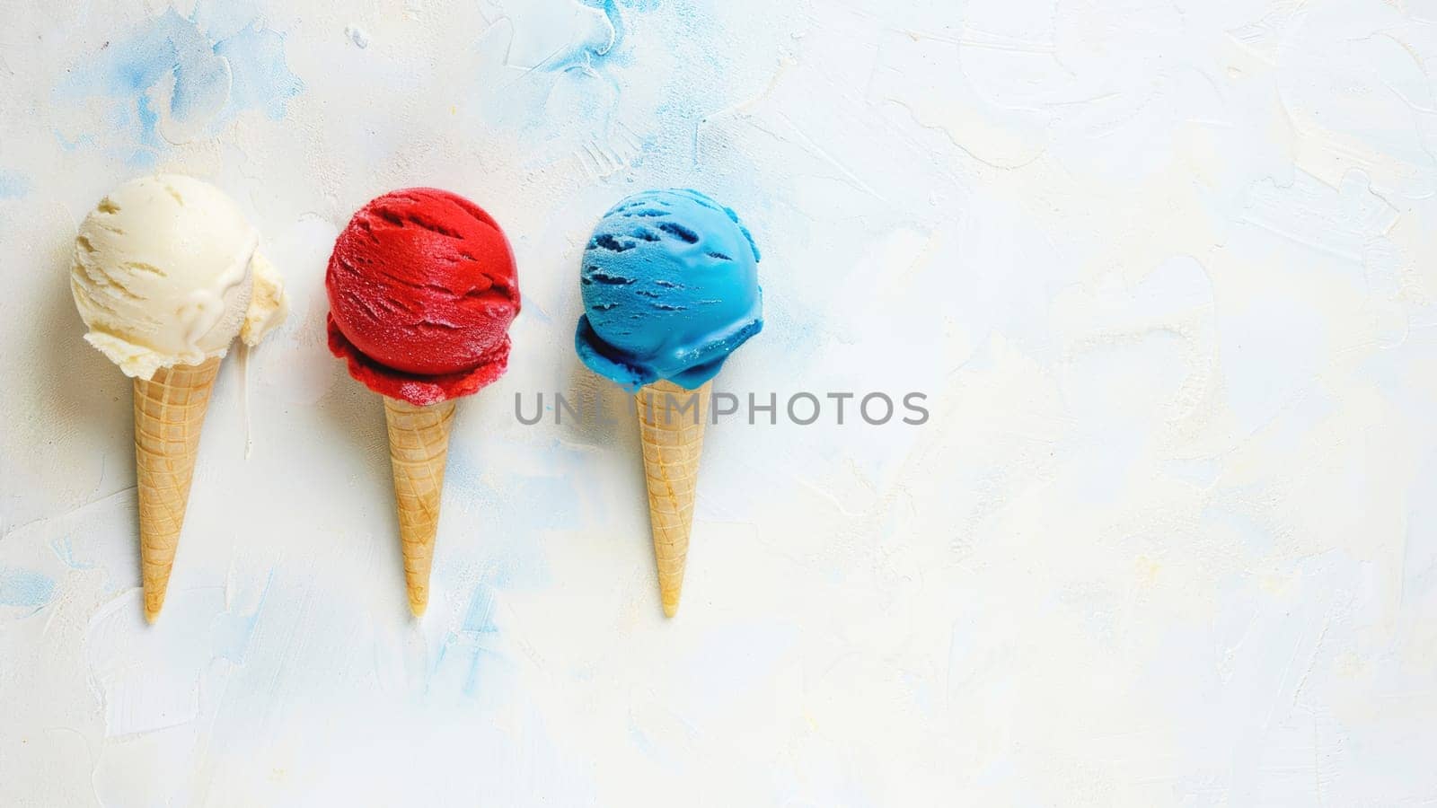
<svg viewBox="0 0 1437 808">
<path fill-rule="evenodd" d="M 332 6 L 0 0 L 0 804 L 1437 801 L 1437 1 Z M 154 628 L 65 280 L 148 170 L 295 303 L 224 367 Z M 322 328 L 338 229 L 412 184 L 525 293 L 421 624 Z M 632 426 L 513 416 L 606 390 L 578 256 L 652 185 L 763 247 L 721 387 L 933 411 L 711 428 L 668 623 Z"/>
</svg>

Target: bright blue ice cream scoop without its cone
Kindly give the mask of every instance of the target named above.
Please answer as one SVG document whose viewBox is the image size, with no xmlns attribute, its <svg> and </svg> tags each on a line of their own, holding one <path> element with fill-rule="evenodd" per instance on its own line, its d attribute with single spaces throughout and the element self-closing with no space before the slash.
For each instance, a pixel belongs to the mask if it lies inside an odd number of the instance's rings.
<svg viewBox="0 0 1437 808">
<path fill-rule="evenodd" d="M 614 206 L 583 250 L 573 336 L 593 372 L 628 390 L 694 390 L 763 328 L 759 247 L 733 210 L 690 190 Z"/>
</svg>

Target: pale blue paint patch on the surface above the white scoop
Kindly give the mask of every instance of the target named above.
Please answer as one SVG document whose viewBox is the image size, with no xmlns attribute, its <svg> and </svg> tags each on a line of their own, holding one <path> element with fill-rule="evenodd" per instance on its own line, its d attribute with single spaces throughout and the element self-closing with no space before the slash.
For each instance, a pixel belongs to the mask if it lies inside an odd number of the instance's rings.
<svg viewBox="0 0 1437 808">
<path fill-rule="evenodd" d="M 220 29 L 207 30 L 205 20 Z M 112 98 L 112 125 L 128 129 L 141 147 L 129 155 L 131 162 L 147 164 L 168 145 L 158 132 L 161 111 L 154 106 L 167 81 L 174 89 L 164 112 L 177 122 L 211 128 L 246 109 L 277 119 L 286 101 L 303 89 L 285 63 L 282 35 L 257 22 L 234 30 L 233 22 L 203 4 L 193 17 L 165 10 L 128 39 L 112 42 L 57 93 Z"/>
</svg>

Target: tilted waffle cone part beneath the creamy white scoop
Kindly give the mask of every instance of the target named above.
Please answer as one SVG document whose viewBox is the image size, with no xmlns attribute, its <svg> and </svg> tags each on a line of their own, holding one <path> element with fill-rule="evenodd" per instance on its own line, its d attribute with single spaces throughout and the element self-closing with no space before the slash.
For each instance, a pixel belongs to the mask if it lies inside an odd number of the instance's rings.
<svg viewBox="0 0 1437 808">
<path fill-rule="evenodd" d="M 135 380 L 135 477 L 139 489 L 139 566 L 145 620 L 165 604 L 180 528 L 190 503 L 200 427 L 220 359 L 160 368 Z"/>
</svg>

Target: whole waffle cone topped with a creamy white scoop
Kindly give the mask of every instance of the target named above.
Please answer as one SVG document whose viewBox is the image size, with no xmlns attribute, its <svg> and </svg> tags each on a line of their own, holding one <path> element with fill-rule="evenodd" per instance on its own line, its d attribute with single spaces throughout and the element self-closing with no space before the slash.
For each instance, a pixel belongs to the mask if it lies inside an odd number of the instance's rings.
<svg viewBox="0 0 1437 808">
<path fill-rule="evenodd" d="M 85 217 L 70 292 L 85 339 L 134 380 L 141 579 L 154 623 L 220 359 L 236 336 L 257 345 L 283 321 L 283 282 L 223 191 L 158 174 L 119 185 Z"/>
</svg>

